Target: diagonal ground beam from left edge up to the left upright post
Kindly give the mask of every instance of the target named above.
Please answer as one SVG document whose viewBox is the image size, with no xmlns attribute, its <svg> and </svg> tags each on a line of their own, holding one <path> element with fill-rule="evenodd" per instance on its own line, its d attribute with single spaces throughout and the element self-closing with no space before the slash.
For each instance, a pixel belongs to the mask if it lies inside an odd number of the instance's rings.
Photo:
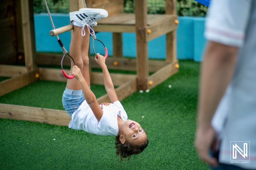
<svg viewBox="0 0 256 170">
<path fill-rule="evenodd" d="M 36 73 L 39 74 L 38 69 L 0 82 L 0 96 L 37 81 Z"/>
</svg>

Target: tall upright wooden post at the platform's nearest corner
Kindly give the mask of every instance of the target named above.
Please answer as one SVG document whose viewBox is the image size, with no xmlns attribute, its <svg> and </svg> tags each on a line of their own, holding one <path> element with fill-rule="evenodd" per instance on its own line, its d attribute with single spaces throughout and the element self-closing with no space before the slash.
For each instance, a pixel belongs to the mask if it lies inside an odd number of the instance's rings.
<svg viewBox="0 0 256 170">
<path fill-rule="evenodd" d="M 147 90 L 148 78 L 148 42 L 145 41 L 145 27 L 147 26 L 147 1 L 135 1 L 136 46 L 137 46 L 137 76 L 138 90 Z"/>
</svg>

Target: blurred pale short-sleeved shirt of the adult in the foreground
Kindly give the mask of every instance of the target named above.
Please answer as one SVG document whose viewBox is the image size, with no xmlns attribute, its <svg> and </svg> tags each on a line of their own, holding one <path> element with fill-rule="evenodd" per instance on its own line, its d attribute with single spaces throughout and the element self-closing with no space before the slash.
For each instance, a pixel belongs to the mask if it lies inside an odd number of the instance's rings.
<svg viewBox="0 0 256 170">
<path fill-rule="evenodd" d="M 256 1 L 211 0 L 205 37 L 239 48 L 234 77 L 212 119 L 221 140 L 219 162 L 256 169 Z M 231 162 L 231 141 L 250 141 L 250 163 Z"/>
</svg>

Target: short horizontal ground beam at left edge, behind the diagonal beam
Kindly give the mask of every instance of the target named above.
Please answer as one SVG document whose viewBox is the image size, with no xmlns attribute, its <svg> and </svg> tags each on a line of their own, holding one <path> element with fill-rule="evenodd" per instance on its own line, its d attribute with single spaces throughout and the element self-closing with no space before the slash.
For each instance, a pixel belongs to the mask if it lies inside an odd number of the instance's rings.
<svg viewBox="0 0 256 170">
<path fill-rule="evenodd" d="M 0 65 L 0 76 L 1 77 L 13 77 L 27 73 L 27 69 L 24 66 L 14 65 Z"/>
</svg>

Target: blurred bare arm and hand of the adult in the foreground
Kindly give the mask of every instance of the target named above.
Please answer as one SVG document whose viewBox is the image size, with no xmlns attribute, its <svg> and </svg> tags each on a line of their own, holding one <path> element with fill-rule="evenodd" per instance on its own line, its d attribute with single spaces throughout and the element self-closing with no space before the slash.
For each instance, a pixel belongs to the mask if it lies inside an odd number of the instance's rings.
<svg viewBox="0 0 256 170">
<path fill-rule="evenodd" d="M 215 137 L 211 121 L 234 74 L 237 49 L 210 41 L 201 68 L 196 148 L 201 159 L 212 166 L 218 162 L 208 154 Z"/>
</svg>

